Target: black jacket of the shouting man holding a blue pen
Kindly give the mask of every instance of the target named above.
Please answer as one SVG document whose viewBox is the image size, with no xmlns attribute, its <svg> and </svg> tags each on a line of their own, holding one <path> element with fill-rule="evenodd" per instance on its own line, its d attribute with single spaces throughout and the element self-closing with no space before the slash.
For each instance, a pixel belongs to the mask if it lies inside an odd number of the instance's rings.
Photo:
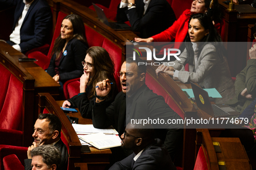
<svg viewBox="0 0 256 170">
<path fill-rule="evenodd" d="M 119 136 L 124 132 L 126 124 L 126 111 L 130 112 L 130 119 L 164 119 L 165 123 L 168 119 L 182 119 L 175 111 L 173 111 L 162 96 L 159 96 L 150 90 L 146 84 L 141 86 L 138 91 L 134 93 L 133 100 L 126 102 L 126 96 L 121 91 L 117 94 L 115 101 L 106 108 L 106 103 L 100 102 L 99 104 L 94 102 L 92 111 L 92 123 L 95 128 L 104 129 L 112 125 Z M 129 104 L 131 102 L 131 104 Z M 130 107 L 126 108 L 126 104 Z M 126 122 L 126 124 L 125 124 Z M 156 137 L 163 137 L 165 133 L 165 146 L 169 151 L 171 157 L 174 157 L 178 153 L 178 148 L 183 141 L 183 124 L 153 124 L 157 129 Z"/>
</svg>

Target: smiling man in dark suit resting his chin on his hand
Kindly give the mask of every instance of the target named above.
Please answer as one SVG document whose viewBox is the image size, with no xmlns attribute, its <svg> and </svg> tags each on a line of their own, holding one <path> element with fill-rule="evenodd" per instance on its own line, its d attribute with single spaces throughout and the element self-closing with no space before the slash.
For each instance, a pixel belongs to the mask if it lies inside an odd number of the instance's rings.
<svg viewBox="0 0 256 170">
<path fill-rule="evenodd" d="M 28 148 L 28 159 L 24 160 L 25 170 L 32 169 L 32 149 L 42 145 L 54 145 L 58 148 L 62 155 L 60 170 L 68 169 L 68 150 L 66 145 L 62 142 L 61 130 L 62 123 L 57 116 L 51 113 L 39 114 L 32 135 L 35 141 L 33 142 L 33 145 Z"/>
</svg>

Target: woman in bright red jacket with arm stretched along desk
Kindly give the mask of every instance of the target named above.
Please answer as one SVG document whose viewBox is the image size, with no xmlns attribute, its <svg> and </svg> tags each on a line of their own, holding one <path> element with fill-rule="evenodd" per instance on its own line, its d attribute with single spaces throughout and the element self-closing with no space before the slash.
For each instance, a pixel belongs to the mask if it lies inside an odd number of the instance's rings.
<svg viewBox="0 0 256 170">
<path fill-rule="evenodd" d="M 175 40 L 175 42 L 185 41 L 186 35 L 188 33 L 188 20 L 192 14 L 195 13 L 207 13 L 211 0 L 193 0 L 191 4 L 191 9 L 186 9 L 177 21 L 173 23 L 171 27 L 162 31 L 161 33 L 154 35 L 150 38 L 135 38 L 136 42 L 170 42 Z M 212 20 L 216 23 L 215 27 L 219 30 L 221 19 L 221 12 L 218 8 L 218 0 L 213 0 L 214 8 L 212 15 Z M 210 11 L 209 11 L 210 12 Z M 180 43 L 175 44 L 175 48 L 179 48 Z"/>
</svg>

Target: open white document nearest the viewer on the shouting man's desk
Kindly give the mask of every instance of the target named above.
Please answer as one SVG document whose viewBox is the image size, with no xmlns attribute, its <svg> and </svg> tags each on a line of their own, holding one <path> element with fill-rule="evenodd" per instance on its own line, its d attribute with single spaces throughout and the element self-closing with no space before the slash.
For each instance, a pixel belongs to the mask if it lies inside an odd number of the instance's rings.
<svg viewBox="0 0 256 170">
<path fill-rule="evenodd" d="M 79 139 L 82 139 L 98 149 L 113 148 L 121 145 L 121 139 L 118 135 L 94 133 L 91 135 L 79 135 Z"/>
</svg>

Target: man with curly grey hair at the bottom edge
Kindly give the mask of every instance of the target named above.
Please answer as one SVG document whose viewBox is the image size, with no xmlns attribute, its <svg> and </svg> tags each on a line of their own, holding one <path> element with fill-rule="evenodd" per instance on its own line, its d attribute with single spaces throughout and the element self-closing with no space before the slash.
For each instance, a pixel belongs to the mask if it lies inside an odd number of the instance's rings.
<svg viewBox="0 0 256 170">
<path fill-rule="evenodd" d="M 55 146 L 42 145 L 31 150 L 32 170 L 58 170 L 61 163 L 61 153 Z"/>
</svg>

